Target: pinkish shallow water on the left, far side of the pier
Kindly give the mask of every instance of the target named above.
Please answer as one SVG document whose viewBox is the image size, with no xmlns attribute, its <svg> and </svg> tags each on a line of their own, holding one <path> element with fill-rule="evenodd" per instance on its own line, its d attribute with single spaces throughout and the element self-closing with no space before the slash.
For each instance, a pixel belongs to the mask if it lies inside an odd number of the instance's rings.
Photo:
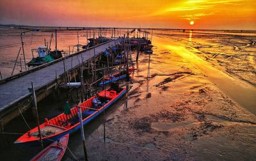
<svg viewBox="0 0 256 161">
<path fill-rule="evenodd" d="M 19 53 L 19 48 L 21 47 L 20 33 L 28 31 L 26 29 L 15 29 L 15 28 L 2 28 L 0 27 L 0 71 L 3 78 L 11 75 L 15 60 Z M 118 34 L 117 34 L 118 33 Z M 51 34 L 52 40 L 51 40 Z M 116 32 L 116 36 L 123 35 L 120 32 Z M 79 38 L 77 38 L 77 36 Z M 113 36 L 112 31 L 102 32 L 102 36 Z M 95 30 L 95 38 L 99 37 L 99 30 Z M 24 53 L 26 63 L 28 63 L 32 58 L 31 49 L 36 49 L 39 46 L 45 46 L 45 41 L 48 46 L 51 44 L 51 50 L 55 50 L 55 29 L 44 29 L 40 31 L 26 32 L 22 36 L 24 41 Z M 57 49 L 65 52 L 67 55 L 77 52 L 77 43 L 79 45 L 86 45 L 88 43 L 88 38 L 93 38 L 93 30 L 83 30 L 83 31 L 57 31 Z M 79 50 L 83 48 L 79 47 Z M 38 56 L 38 53 L 33 53 Z M 20 50 L 20 59 L 18 58 L 17 65 L 15 67 L 14 74 L 24 71 L 24 56 L 22 50 Z M 21 67 L 20 67 L 21 60 Z M 32 67 L 30 67 L 32 68 Z"/>
</svg>

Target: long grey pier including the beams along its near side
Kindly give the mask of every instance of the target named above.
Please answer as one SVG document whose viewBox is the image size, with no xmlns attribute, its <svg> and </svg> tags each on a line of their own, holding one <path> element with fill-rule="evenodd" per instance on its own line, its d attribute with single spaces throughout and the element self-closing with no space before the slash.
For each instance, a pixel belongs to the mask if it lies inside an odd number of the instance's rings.
<svg viewBox="0 0 256 161">
<path fill-rule="evenodd" d="M 81 51 L 73 56 L 65 59 L 65 66 L 68 70 L 76 69 L 82 62 L 88 60 L 94 60 L 95 57 L 99 57 L 106 48 L 114 46 L 121 39 L 108 41 L 95 46 L 94 49 Z M 35 84 L 37 101 L 41 101 L 47 95 L 56 90 L 57 81 L 56 78 L 63 77 L 65 75 L 65 69 L 63 67 L 63 61 L 58 60 L 49 66 L 42 67 L 40 69 L 32 69 L 26 71 L 25 74 L 18 74 L 17 78 L 6 80 L 0 84 L 0 124 L 3 126 L 10 122 L 13 118 L 20 115 L 20 111 L 26 111 L 31 107 L 32 95 L 29 88 L 31 88 L 31 81 Z"/>
</svg>

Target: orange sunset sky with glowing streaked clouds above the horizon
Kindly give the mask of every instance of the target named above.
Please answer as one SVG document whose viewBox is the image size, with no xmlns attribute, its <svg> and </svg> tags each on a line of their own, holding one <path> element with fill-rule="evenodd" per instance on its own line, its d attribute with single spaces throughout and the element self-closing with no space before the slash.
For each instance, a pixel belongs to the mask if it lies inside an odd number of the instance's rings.
<svg viewBox="0 0 256 161">
<path fill-rule="evenodd" d="M 256 1 L 0 0 L 0 24 L 255 30 Z"/>
</svg>

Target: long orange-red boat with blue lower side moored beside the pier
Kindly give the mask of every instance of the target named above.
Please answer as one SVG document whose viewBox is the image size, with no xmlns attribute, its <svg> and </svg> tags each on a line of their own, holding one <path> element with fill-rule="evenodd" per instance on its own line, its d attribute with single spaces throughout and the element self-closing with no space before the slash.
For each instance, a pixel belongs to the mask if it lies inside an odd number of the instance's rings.
<svg viewBox="0 0 256 161">
<path fill-rule="evenodd" d="M 95 95 L 90 99 L 79 103 L 74 108 L 70 109 L 70 114 L 61 113 L 60 115 L 48 120 L 45 118 L 45 122 L 40 125 L 40 131 L 43 143 L 49 143 L 49 141 L 56 141 L 66 134 L 71 134 L 80 129 L 81 125 L 78 118 L 78 109 L 81 108 L 83 113 L 83 125 L 88 124 L 95 117 L 100 115 L 102 111 L 108 109 L 114 102 L 116 102 L 126 92 L 125 87 L 120 88 L 118 85 L 111 85 L 98 93 L 99 96 Z M 95 109 L 92 100 L 99 97 L 102 102 L 100 108 Z M 40 136 L 38 134 L 38 128 L 29 130 L 17 139 L 15 144 L 27 144 L 27 145 L 38 145 L 40 143 Z"/>
</svg>

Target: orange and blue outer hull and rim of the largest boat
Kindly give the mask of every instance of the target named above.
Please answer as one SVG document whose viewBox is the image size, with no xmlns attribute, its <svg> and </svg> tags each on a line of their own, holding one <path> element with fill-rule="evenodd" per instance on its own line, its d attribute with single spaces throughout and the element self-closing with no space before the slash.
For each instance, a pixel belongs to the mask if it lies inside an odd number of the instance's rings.
<svg viewBox="0 0 256 161">
<path fill-rule="evenodd" d="M 104 90 L 105 91 L 105 90 Z M 104 92 L 102 91 L 102 92 Z M 107 90 L 106 90 L 107 91 Z M 89 122 L 91 122 L 94 118 L 96 118 L 97 116 L 100 115 L 100 113 L 102 113 L 102 111 L 108 109 L 113 103 L 115 103 L 118 99 L 120 99 L 120 97 L 122 97 L 126 92 L 125 88 L 122 88 L 122 91 L 120 91 L 118 93 L 118 95 L 116 95 L 115 98 L 111 99 L 111 101 L 109 101 L 108 103 L 106 103 L 104 106 L 102 106 L 101 108 L 99 108 L 97 111 L 93 112 L 92 115 L 86 117 L 83 119 L 83 125 L 87 125 Z M 91 101 L 94 97 L 91 97 L 90 99 L 88 99 L 87 101 Z M 85 101 L 86 102 L 86 101 Z M 83 103 L 82 103 L 83 104 Z M 75 107 L 76 108 L 76 107 Z M 74 109 L 74 108 L 73 108 Z M 71 109 L 72 110 L 72 109 Z M 63 114 L 61 114 L 63 115 Z M 61 116 L 58 115 L 58 116 Z M 57 118 L 58 116 L 56 116 L 55 118 Z M 55 118 L 52 118 L 51 120 L 49 120 L 49 122 L 53 122 L 54 120 L 56 120 Z M 48 120 L 47 120 L 48 122 Z M 43 123 L 40 125 L 41 130 L 46 126 L 45 124 L 47 123 Z M 56 141 L 58 139 L 60 139 L 61 137 L 65 136 L 66 134 L 72 134 L 73 132 L 76 132 L 77 130 L 80 129 L 80 123 L 76 123 L 76 125 L 73 125 L 70 128 L 64 129 L 61 132 L 58 132 L 52 136 L 46 136 L 42 138 L 42 141 L 44 143 L 49 143 L 50 141 Z M 59 128 L 61 129 L 62 127 L 58 127 L 57 125 L 53 125 L 53 127 L 55 128 Z M 32 129 L 31 131 L 36 132 L 36 128 Z M 57 129 L 58 130 L 58 129 Z M 38 130 L 37 130 L 38 132 Z M 38 145 L 40 144 L 40 139 L 39 137 L 33 137 L 30 138 L 28 135 L 28 132 L 26 134 L 24 134 L 22 137 L 20 137 L 19 139 L 17 139 L 17 141 L 15 141 L 15 144 L 24 144 L 24 145 L 28 145 L 28 146 L 34 146 L 34 145 Z"/>
</svg>

